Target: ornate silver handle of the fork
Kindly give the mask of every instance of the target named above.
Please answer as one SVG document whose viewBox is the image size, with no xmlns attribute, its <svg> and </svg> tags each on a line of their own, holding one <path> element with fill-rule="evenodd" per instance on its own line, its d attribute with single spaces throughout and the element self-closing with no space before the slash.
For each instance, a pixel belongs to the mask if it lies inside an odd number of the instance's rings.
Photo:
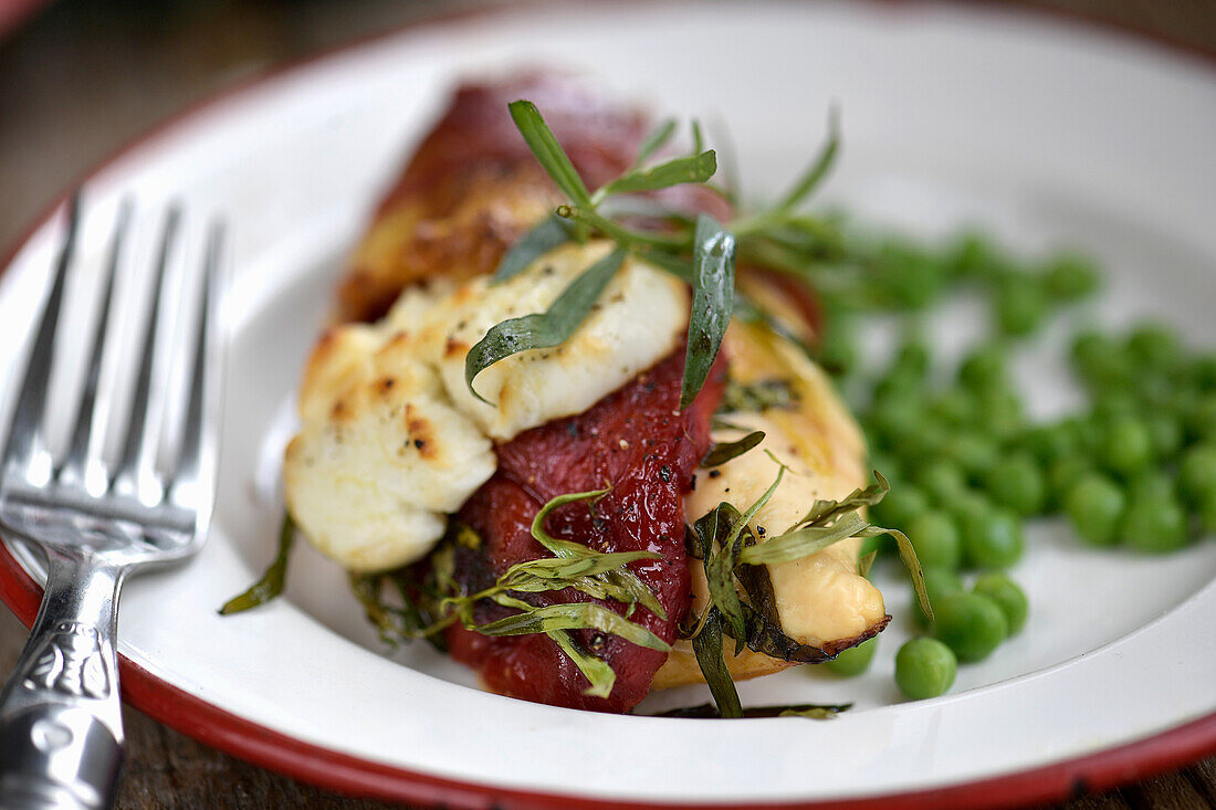
<svg viewBox="0 0 1216 810">
<path fill-rule="evenodd" d="M 114 630 L 124 569 L 47 549 L 46 592 L 0 694 L 0 810 L 97 810 L 123 761 Z"/>
</svg>

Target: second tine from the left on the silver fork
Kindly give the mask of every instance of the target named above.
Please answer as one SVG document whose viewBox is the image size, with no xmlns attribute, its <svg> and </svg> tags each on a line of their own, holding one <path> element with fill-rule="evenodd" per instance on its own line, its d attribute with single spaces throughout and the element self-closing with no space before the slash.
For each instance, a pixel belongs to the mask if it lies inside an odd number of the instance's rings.
<svg viewBox="0 0 1216 810">
<path fill-rule="evenodd" d="M 131 202 L 124 199 L 109 237 L 109 255 L 106 259 L 105 292 L 101 299 L 101 314 L 94 328 L 92 348 L 89 356 L 89 371 L 80 394 L 80 407 L 77 412 L 75 427 L 72 431 L 72 444 L 67 457 L 60 467 L 61 480 L 73 480 L 84 484 L 94 495 L 105 490 L 105 472 L 101 466 L 102 444 L 106 437 L 106 422 L 109 417 L 109 398 L 97 400 L 97 382 L 101 378 L 101 364 L 106 350 L 106 336 L 109 325 L 111 300 L 114 294 L 114 279 L 118 275 L 118 263 L 126 229 L 131 218 Z"/>
</svg>

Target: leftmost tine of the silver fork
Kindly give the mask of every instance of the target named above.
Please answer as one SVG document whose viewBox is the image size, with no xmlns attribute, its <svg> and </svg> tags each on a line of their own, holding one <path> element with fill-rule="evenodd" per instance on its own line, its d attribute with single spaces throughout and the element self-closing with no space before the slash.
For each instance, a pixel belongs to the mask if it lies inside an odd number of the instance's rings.
<svg viewBox="0 0 1216 810">
<path fill-rule="evenodd" d="M 13 411 L 12 427 L 5 448 L 6 472 L 29 476 L 35 454 L 45 446 L 43 441 L 43 411 L 46 406 L 46 389 L 51 377 L 51 360 L 55 355 L 55 333 L 60 324 L 63 288 L 75 253 L 77 232 L 80 229 L 80 190 L 68 201 L 68 231 L 60 249 L 51 293 L 43 306 L 43 319 L 38 324 L 34 348 L 26 364 L 26 378 L 18 386 L 21 396 Z"/>
</svg>

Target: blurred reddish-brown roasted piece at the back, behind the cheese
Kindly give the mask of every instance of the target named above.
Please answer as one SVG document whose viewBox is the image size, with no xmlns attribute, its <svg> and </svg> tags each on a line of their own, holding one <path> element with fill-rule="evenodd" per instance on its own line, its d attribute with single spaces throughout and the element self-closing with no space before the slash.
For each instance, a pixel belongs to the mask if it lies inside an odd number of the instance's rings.
<svg viewBox="0 0 1216 810">
<path fill-rule="evenodd" d="M 342 320 L 376 320 L 402 289 L 426 279 L 462 281 L 492 272 L 507 248 L 563 202 L 506 112 L 517 99 L 545 111 L 592 187 L 627 169 L 646 136 L 643 116 L 574 81 L 535 74 L 460 88 L 355 249 L 338 288 Z M 666 193 L 688 203 L 686 210 L 728 210 L 705 189 Z"/>
</svg>

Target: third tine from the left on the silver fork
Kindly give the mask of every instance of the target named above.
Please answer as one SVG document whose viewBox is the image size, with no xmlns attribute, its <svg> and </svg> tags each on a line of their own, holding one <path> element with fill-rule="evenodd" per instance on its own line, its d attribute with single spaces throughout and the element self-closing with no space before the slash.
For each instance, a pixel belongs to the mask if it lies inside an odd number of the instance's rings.
<svg viewBox="0 0 1216 810">
<path fill-rule="evenodd" d="M 178 236 L 181 221 L 181 209 L 173 206 L 165 215 L 161 231 L 161 247 L 157 253 L 156 281 L 152 289 L 152 303 L 143 328 L 142 356 L 135 392 L 131 398 L 131 420 L 123 443 L 123 455 L 114 473 L 113 490 L 154 502 L 159 499 L 159 484 L 156 479 L 157 435 L 164 416 L 165 400 L 165 360 L 171 353 L 168 341 L 162 341 L 158 350 L 157 334 L 170 320 L 162 303 L 165 276 L 169 275 L 169 253 Z M 156 377 L 156 379 L 153 379 Z"/>
</svg>

